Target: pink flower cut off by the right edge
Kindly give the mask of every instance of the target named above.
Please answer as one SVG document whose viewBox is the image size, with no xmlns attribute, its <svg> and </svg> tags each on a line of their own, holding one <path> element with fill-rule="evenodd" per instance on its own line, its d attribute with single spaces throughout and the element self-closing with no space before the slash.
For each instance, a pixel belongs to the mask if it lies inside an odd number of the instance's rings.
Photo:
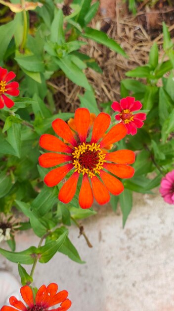
<svg viewBox="0 0 174 311">
<path fill-rule="evenodd" d="M 162 178 L 159 191 L 165 202 L 174 204 L 174 169 Z"/>
</svg>

